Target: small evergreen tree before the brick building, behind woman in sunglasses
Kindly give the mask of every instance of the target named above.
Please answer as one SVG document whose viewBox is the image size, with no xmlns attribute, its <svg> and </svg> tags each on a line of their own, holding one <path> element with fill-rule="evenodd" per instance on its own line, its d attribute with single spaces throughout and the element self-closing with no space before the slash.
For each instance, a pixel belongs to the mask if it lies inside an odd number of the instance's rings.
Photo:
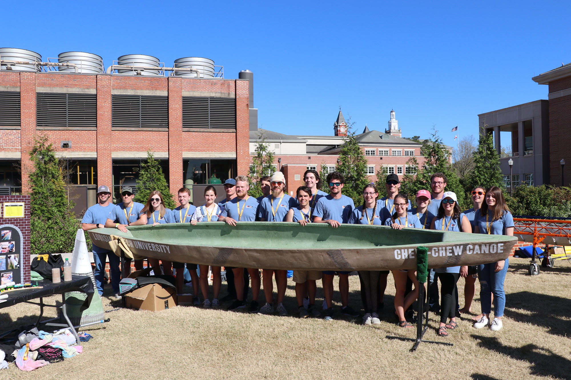
<svg viewBox="0 0 571 380">
<path fill-rule="evenodd" d="M 160 167 L 159 161 L 155 160 L 155 157 L 149 150 L 147 152 L 147 161 L 141 163 L 139 179 L 137 179 L 137 193 L 133 201 L 143 203 L 144 205 L 147 203 L 151 191 L 156 190 L 163 195 L 164 207 L 168 209 L 176 207 L 167 180 L 164 179 L 163 168 Z"/>
</svg>

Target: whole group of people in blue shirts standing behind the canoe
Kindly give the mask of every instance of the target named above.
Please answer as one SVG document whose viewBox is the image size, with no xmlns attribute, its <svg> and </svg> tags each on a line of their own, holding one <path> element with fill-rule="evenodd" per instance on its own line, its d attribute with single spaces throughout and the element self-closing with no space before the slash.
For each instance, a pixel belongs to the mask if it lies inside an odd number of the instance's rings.
<svg viewBox="0 0 571 380">
<path fill-rule="evenodd" d="M 133 202 L 134 195 L 130 187 L 124 186 L 121 194 L 122 203 L 112 205 L 110 192 L 106 186 L 98 188 L 98 204 L 90 207 L 83 217 L 83 229 L 116 227 L 126 232 L 126 226 L 162 223 L 196 223 L 225 222 L 236 226 L 240 222 L 268 221 L 268 222 L 297 222 L 301 226 L 308 223 L 327 223 L 332 228 L 340 224 L 372 224 L 385 225 L 392 228 L 425 228 L 433 230 L 447 230 L 468 233 L 513 235 L 513 218 L 506 206 L 501 189 L 490 187 L 476 187 L 472 190 L 473 208 L 460 211 L 456 194 L 445 191 L 447 178 L 443 173 L 435 173 L 431 177 L 431 190 L 420 190 L 416 194 L 416 206 L 407 195 L 399 193 L 400 181 L 396 174 L 388 174 L 385 180 L 387 196 L 379 198 L 379 191 L 373 183 L 363 189 L 363 205 L 356 207 L 353 200 L 342 194 L 344 177 L 334 171 L 329 173 L 326 185 L 329 193 L 319 190 L 322 180 L 316 170 L 307 170 L 304 173 L 305 186 L 296 190 L 296 197 L 288 195 L 286 179 L 283 173 L 276 172 L 272 177 L 262 177 L 260 184 L 264 195 L 259 198 L 250 197 L 248 190 L 250 184 L 248 177 L 239 175 L 235 179 L 228 179 L 224 183 L 226 199 L 215 203 L 216 189 L 207 186 L 204 189 L 204 205 L 195 207 L 190 204 L 190 191 L 182 188 L 178 191 L 179 207 L 169 210 L 164 206 L 162 194 L 152 191 L 145 205 Z M 111 252 L 93 246 L 95 258 L 95 280 L 98 291 L 102 294 L 102 281 L 104 264 L 108 256 L 111 268 L 111 284 L 114 296 L 118 297 L 119 265 L 118 258 Z M 149 264 L 159 270 L 159 260 L 149 259 Z M 165 274 L 172 274 L 175 269 L 176 284 L 179 292 L 184 285 L 183 271 L 185 264 L 162 260 Z M 142 268 L 142 260 L 135 261 L 135 268 Z M 287 271 L 265 268 L 230 268 L 226 267 L 228 282 L 228 296 L 219 300 L 222 277 L 220 267 L 211 267 L 213 274 L 212 300 L 208 297 L 208 265 L 199 265 L 200 279 L 196 273 L 196 264 L 186 264 L 190 272 L 193 288 L 193 304 L 200 305 L 198 296 L 199 285 L 202 291 L 204 308 L 218 308 L 225 300 L 234 300 L 229 310 L 247 308 L 249 312 L 272 314 L 277 312 L 281 316 L 288 314 L 283 305 L 287 288 Z M 475 293 L 475 280 L 480 279 L 480 296 L 482 313 L 473 318 L 475 328 L 490 326 L 492 330 L 501 329 L 501 317 L 505 306 L 505 293 L 503 284 L 508 268 L 508 260 L 497 263 L 475 265 L 474 267 L 448 267 L 431 270 L 431 280 L 436 285 L 440 279 L 441 308 L 438 305 L 437 285 L 431 293 L 431 309 L 440 308 L 440 326 L 437 330 L 439 336 L 447 336 L 447 330 L 455 329 L 456 317 L 459 313 L 456 283 L 460 277 L 466 279 L 465 307 L 462 312 L 471 312 L 471 303 Z M 266 302 L 260 307 L 259 293 L 262 287 L 260 270 L 263 277 L 263 291 Z M 359 271 L 361 283 L 361 299 L 365 308 L 363 324 L 380 324 L 379 309 L 383 308 L 383 295 L 387 287 L 389 271 Z M 406 310 L 417 299 L 419 284 L 413 269 L 392 271 L 395 280 L 395 315 L 399 326 L 412 328 L 405 317 Z M 274 301 L 274 284 L 272 276 L 275 275 L 277 296 Z M 323 284 L 324 301 L 323 310 L 325 319 L 333 317 L 333 280 L 339 276 L 339 292 L 341 296 L 340 312 L 346 316 L 360 317 L 360 313 L 349 304 L 349 272 L 343 271 L 293 271 L 295 292 L 298 304 L 297 313 L 300 317 L 319 317 L 320 310 L 315 305 L 316 281 Z M 248 278 L 251 279 L 252 301 L 247 304 Z M 408 283 L 408 285 L 407 285 Z M 413 285 L 413 289 L 411 287 Z M 408 289 L 407 289 L 408 288 Z M 494 318 L 490 323 L 492 299 L 494 301 Z"/>
</svg>

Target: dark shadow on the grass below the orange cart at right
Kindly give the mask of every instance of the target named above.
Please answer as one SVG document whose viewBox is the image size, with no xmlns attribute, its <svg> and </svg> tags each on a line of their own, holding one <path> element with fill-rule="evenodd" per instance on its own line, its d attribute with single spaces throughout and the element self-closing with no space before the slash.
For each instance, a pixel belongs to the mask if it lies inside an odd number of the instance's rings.
<svg viewBox="0 0 571 380">
<path fill-rule="evenodd" d="M 506 305 L 505 315 L 515 321 L 543 326 L 550 334 L 571 335 L 571 320 L 564 319 L 571 316 L 569 299 L 524 291 L 506 294 Z M 528 313 L 516 309 L 527 310 Z"/>
</svg>

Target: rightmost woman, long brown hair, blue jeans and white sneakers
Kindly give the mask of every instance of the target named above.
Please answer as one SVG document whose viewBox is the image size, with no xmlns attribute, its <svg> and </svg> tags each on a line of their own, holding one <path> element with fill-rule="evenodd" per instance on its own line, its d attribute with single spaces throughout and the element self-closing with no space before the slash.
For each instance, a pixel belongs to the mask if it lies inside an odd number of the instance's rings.
<svg viewBox="0 0 571 380">
<path fill-rule="evenodd" d="M 485 202 L 476 213 L 475 220 L 477 220 L 476 234 L 513 236 L 513 216 L 509 212 L 501 189 L 497 186 L 486 190 Z M 476 321 L 475 328 L 481 329 L 488 325 L 492 331 L 502 328 L 501 317 L 504 315 L 505 308 L 504 280 L 508 265 L 509 259 L 478 265 L 480 302 L 484 315 Z M 494 295 L 494 319 L 490 324 L 492 293 Z"/>
</svg>

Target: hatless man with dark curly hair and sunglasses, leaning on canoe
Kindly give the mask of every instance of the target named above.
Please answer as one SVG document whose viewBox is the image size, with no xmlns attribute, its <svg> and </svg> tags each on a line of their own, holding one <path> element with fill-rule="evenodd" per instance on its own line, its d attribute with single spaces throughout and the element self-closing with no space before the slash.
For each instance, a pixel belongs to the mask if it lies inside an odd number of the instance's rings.
<svg viewBox="0 0 571 380">
<path fill-rule="evenodd" d="M 313 211 L 314 223 L 327 223 L 333 228 L 337 228 L 341 223 L 347 223 L 349 215 L 355 208 L 353 199 L 347 195 L 341 194 L 343 190 L 343 182 L 345 178 L 339 171 L 333 171 L 327 175 L 327 184 L 331 194 L 319 198 L 315 211 Z M 349 304 L 349 273 L 338 271 L 339 274 L 339 293 L 341 293 L 341 313 L 353 318 L 359 317 L 357 313 Z M 324 271 L 321 282 L 323 283 L 323 293 L 325 295 L 325 302 L 327 303 L 327 310 L 325 310 L 325 319 L 331 320 L 333 318 L 333 278 L 335 271 Z"/>
</svg>

